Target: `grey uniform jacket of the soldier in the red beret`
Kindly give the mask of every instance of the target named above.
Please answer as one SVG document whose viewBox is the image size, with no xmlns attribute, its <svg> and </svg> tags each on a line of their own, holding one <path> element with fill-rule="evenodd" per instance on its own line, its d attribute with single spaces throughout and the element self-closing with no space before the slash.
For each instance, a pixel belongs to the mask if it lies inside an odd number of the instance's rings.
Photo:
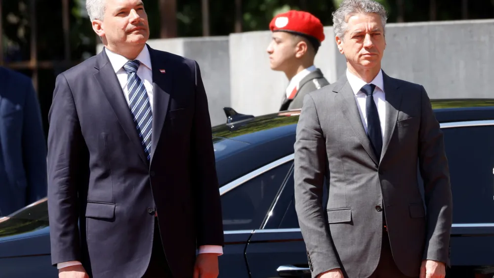
<svg viewBox="0 0 494 278">
<path fill-rule="evenodd" d="M 320 69 L 316 69 L 300 81 L 300 89 L 298 89 L 293 99 L 288 99 L 287 94 L 283 93 L 280 111 L 302 108 L 304 96 L 306 94 L 314 92 L 327 85 L 329 85 L 328 80 L 324 78 L 324 75 Z"/>
</svg>

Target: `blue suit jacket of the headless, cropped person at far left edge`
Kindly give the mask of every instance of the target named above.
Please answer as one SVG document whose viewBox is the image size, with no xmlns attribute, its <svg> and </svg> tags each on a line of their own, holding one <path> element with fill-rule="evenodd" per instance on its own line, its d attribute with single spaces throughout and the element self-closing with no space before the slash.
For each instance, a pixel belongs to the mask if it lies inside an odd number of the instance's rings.
<svg viewBox="0 0 494 278">
<path fill-rule="evenodd" d="M 0 216 L 46 197 L 46 140 L 32 81 L 0 67 Z"/>
</svg>

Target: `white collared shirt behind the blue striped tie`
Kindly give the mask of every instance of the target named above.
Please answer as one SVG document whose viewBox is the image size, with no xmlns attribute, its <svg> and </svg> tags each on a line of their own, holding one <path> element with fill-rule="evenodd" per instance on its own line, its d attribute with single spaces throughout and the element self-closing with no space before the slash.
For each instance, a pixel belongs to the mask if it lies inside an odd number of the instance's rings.
<svg viewBox="0 0 494 278">
<path fill-rule="evenodd" d="M 120 82 L 120 87 L 124 90 L 125 100 L 128 102 L 128 90 L 125 86 L 127 84 L 127 72 L 124 70 L 124 65 L 129 59 L 124 56 L 117 54 L 115 52 L 110 51 L 105 47 L 106 54 L 108 55 L 108 59 L 110 59 L 110 63 L 112 64 L 113 70 L 115 74 L 117 74 L 117 78 Z M 151 112 L 153 112 L 153 68 L 151 67 L 151 56 L 149 55 L 149 49 L 147 46 L 142 48 L 141 53 L 137 55 L 136 60 L 139 60 L 141 64 L 137 69 L 137 76 L 144 83 L 144 88 L 146 88 L 146 93 L 149 98 L 149 105 L 151 106 Z"/>
</svg>

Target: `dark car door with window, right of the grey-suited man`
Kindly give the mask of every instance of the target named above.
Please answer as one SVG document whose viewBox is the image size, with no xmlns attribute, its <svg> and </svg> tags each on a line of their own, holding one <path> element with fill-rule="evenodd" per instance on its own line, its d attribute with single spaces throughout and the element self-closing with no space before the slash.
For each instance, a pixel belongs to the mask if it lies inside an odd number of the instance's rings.
<svg viewBox="0 0 494 278">
<path fill-rule="evenodd" d="M 451 263 L 494 272 L 494 121 L 441 126 L 453 194 Z"/>
</svg>

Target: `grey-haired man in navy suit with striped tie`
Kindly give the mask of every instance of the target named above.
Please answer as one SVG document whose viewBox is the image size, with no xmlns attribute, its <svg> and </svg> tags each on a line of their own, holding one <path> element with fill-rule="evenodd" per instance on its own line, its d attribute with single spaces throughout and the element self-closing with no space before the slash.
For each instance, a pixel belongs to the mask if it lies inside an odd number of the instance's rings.
<svg viewBox="0 0 494 278">
<path fill-rule="evenodd" d="M 52 264 L 64 278 L 216 278 L 223 226 L 199 65 L 146 44 L 141 0 L 86 6 L 105 47 L 56 79 Z"/>
</svg>

